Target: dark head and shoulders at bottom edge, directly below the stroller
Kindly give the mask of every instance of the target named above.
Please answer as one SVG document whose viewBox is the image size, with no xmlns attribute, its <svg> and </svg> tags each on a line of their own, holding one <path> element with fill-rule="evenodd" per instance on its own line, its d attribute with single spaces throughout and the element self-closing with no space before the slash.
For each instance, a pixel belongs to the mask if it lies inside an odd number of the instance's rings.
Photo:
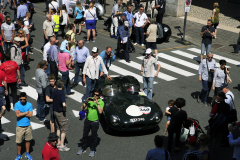
<svg viewBox="0 0 240 160">
<path fill-rule="evenodd" d="M 188 149 L 187 153 L 184 154 L 183 156 L 183 160 L 187 160 L 188 157 L 192 154 L 194 154 L 197 159 L 196 160 L 202 160 L 203 156 L 202 156 L 202 152 L 199 151 L 198 149 L 196 149 L 197 146 L 197 138 L 194 136 L 191 136 L 187 139 L 187 146 Z"/>
</svg>

